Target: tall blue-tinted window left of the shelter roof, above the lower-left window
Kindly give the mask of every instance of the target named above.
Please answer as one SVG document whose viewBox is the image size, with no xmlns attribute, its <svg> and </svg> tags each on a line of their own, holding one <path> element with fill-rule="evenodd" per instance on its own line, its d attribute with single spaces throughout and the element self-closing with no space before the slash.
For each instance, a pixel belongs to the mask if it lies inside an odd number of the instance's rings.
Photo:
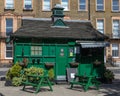
<svg viewBox="0 0 120 96">
<path fill-rule="evenodd" d="M 13 32 L 13 19 L 7 18 L 6 19 L 6 36 L 10 36 Z"/>
</svg>

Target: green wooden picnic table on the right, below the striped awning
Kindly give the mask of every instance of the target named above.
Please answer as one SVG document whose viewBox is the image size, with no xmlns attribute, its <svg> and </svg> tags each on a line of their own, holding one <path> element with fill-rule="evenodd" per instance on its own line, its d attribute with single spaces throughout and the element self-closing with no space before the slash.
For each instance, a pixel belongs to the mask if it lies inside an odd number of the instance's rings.
<svg viewBox="0 0 120 96">
<path fill-rule="evenodd" d="M 95 86 L 96 89 L 99 89 L 100 82 L 95 78 L 95 76 L 80 76 L 80 75 L 75 75 L 75 78 L 73 81 L 70 82 L 71 84 L 71 89 L 73 88 L 73 85 L 81 85 L 84 88 L 84 91 L 87 91 L 89 87 Z"/>
</svg>

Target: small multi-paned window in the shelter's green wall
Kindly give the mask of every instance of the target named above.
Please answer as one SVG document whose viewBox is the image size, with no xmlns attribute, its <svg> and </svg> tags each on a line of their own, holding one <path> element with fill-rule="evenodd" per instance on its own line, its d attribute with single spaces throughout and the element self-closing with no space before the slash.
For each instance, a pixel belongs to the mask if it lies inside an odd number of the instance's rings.
<svg viewBox="0 0 120 96">
<path fill-rule="evenodd" d="M 31 55 L 32 56 L 41 56 L 42 47 L 41 46 L 31 46 Z"/>
</svg>

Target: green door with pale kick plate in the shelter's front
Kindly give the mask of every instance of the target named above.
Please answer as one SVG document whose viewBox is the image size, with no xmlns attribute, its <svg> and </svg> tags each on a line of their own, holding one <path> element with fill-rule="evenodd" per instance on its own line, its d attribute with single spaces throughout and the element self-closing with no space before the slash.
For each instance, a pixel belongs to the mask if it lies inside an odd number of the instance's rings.
<svg viewBox="0 0 120 96">
<path fill-rule="evenodd" d="M 67 46 L 56 48 L 56 80 L 66 80 Z"/>
</svg>

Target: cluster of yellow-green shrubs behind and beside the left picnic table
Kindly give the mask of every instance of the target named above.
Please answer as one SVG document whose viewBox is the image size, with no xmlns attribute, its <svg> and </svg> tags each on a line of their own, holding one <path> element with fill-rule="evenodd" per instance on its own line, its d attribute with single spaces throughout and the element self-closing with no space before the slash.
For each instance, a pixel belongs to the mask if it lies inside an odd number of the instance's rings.
<svg viewBox="0 0 120 96">
<path fill-rule="evenodd" d="M 22 84 L 22 81 L 27 80 L 27 75 L 40 75 L 40 76 L 42 76 L 43 74 L 44 74 L 43 68 L 30 67 L 30 68 L 24 68 L 22 70 L 22 67 L 19 65 L 19 63 L 16 63 L 7 72 L 6 78 L 9 80 L 12 80 L 12 84 L 14 86 L 20 86 Z M 30 78 L 30 79 L 33 82 L 37 82 L 39 78 L 35 78 L 35 79 Z"/>
</svg>

